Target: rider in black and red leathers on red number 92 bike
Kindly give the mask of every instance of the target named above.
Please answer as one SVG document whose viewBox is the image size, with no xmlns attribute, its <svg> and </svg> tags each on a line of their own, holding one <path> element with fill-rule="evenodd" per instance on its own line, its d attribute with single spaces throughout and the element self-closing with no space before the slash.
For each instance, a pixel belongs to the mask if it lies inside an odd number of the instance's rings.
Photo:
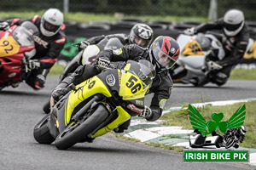
<svg viewBox="0 0 256 170">
<path fill-rule="evenodd" d="M 35 15 L 31 19 L 16 18 L 0 23 L 0 30 L 8 30 L 10 26 L 20 26 L 25 21 L 31 21 L 38 27 L 39 35 L 34 35 L 36 54 L 30 59 L 32 70 L 26 83 L 34 89 L 44 88 L 49 69 L 55 64 L 66 42 L 63 14 L 57 8 L 49 8 L 42 16 Z"/>
</svg>

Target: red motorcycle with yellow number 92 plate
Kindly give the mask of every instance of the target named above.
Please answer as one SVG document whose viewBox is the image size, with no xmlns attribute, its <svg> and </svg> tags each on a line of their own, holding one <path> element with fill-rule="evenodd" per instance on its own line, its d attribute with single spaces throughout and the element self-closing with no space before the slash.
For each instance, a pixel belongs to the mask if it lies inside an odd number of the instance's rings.
<svg viewBox="0 0 256 170">
<path fill-rule="evenodd" d="M 37 32 L 29 21 L 0 31 L 0 90 L 17 87 L 29 75 L 28 60 L 36 53 L 33 34 Z"/>
</svg>

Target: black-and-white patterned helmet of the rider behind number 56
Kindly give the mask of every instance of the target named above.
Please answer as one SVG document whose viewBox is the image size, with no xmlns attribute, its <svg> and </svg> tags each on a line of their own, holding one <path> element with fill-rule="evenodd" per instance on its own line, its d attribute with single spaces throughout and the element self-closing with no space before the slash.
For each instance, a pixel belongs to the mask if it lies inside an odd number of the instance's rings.
<svg viewBox="0 0 256 170">
<path fill-rule="evenodd" d="M 153 30 L 146 24 L 137 24 L 131 28 L 130 43 L 135 43 L 143 48 L 148 48 L 153 38 Z"/>
</svg>

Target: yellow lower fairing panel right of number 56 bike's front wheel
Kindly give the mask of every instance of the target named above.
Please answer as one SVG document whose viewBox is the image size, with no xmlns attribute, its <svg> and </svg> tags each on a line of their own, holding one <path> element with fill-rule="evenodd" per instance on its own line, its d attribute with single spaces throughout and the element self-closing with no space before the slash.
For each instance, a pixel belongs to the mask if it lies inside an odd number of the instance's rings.
<svg viewBox="0 0 256 170">
<path fill-rule="evenodd" d="M 94 135 L 91 136 L 91 138 L 102 136 L 103 134 L 106 134 L 113 130 L 115 127 L 119 127 L 121 123 L 126 122 L 131 118 L 129 113 L 127 113 L 121 106 L 117 106 L 116 109 L 119 113 L 119 116 L 113 122 L 109 123 L 106 127 L 98 130 Z"/>
</svg>

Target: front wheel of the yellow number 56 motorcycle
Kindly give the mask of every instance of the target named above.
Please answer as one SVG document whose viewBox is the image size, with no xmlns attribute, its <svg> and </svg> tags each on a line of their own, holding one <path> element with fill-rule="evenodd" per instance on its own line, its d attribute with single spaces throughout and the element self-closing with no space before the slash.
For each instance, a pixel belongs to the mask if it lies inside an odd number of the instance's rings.
<svg viewBox="0 0 256 170">
<path fill-rule="evenodd" d="M 55 146 L 59 150 L 67 150 L 74 144 L 79 143 L 89 133 L 99 127 L 108 117 L 108 110 L 104 105 L 98 108 L 84 122 L 70 122 L 66 129 L 55 139 Z"/>
</svg>

